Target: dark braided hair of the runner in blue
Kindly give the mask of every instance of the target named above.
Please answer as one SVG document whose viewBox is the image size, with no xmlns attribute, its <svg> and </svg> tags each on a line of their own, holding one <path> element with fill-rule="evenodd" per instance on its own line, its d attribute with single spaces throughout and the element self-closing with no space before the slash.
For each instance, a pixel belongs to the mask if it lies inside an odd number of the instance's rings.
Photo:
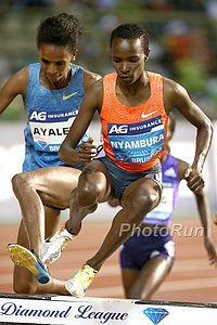
<svg viewBox="0 0 217 325">
<path fill-rule="evenodd" d="M 77 50 L 78 39 L 85 34 L 84 27 L 77 17 L 61 13 L 46 18 L 40 23 L 37 30 L 37 47 L 53 44 L 68 47 L 69 51 Z"/>
</svg>

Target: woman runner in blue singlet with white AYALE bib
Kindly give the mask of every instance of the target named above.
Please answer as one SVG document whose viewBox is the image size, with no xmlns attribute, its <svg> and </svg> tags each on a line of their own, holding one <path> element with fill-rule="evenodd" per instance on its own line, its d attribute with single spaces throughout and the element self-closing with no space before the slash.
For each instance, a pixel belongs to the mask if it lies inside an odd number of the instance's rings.
<svg viewBox="0 0 217 325">
<path fill-rule="evenodd" d="M 27 237 L 23 219 L 17 244 L 25 247 L 31 248 L 33 243 L 41 247 L 44 237 L 56 230 L 60 211 L 68 208 L 71 191 L 77 185 L 82 164 L 90 160 L 88 155 L 82 155 L 82 161 L 68 168 L 58 156 L 85 92 L 101 78 L 75 64 L 82 34 L 79 21 L 66 13 L 42 21 L 37 30 L 39 63 L 18 70 L 0 91 L 0 113 L 21 94 L 27 117 L 24 173 L 12 180 L 28 232 Z M 88 153 L 91 142 L 87 131 L 77 146 L 79 154 Z M 54 166 L 58 166 L 55 170 Z M 55 289 L 52 285 L 40 289 L 31 273 L 15 266 L 14 290 L 51 294 Z"/>
</svg>

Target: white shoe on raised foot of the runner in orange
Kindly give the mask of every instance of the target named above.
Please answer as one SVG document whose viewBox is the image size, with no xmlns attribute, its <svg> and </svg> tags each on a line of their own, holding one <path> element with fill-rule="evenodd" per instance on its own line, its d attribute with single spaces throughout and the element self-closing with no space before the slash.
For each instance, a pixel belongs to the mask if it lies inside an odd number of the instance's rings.
<svg viewBox="0 0 217 325">
<path fill-rule="evenodd" d="M 51 264 L 56 261 L 66 245 L 74 238 L 75 236 L 68 233 L 64 223 L 56 233 L 48 237 L 42 244 L 40 253 L 41 261 L 46 264 Z"/>
</svg>

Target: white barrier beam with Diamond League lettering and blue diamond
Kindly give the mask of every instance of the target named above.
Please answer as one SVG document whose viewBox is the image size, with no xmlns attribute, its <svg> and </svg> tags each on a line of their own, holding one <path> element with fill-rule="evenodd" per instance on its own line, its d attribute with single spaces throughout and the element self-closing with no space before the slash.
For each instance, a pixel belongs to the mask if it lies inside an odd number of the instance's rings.
<svg viewBox="0 0 217 325">
<path fill-rule="evenodd" d="M 215 303 L 0 296 L 2 324 L 216 325 L 216 320 Z"/>
</svg>

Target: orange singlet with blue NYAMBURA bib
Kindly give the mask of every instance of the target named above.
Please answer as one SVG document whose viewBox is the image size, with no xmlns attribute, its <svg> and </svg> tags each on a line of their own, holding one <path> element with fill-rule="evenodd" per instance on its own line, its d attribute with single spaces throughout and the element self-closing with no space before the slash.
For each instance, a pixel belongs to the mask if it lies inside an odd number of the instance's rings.
<svg viewBox="0 0 217 325">
<path fill-rule="evenodd" d="M 119 168 L 144 171 L 164 154 L 168 115 L 163 101 L 163 77 L 148 73 L 151 94 L 139 106 L 126 106 L 116 96 L 117 74 L 103 78 L 100 114 L 105 154 Z"/>
</svg>

